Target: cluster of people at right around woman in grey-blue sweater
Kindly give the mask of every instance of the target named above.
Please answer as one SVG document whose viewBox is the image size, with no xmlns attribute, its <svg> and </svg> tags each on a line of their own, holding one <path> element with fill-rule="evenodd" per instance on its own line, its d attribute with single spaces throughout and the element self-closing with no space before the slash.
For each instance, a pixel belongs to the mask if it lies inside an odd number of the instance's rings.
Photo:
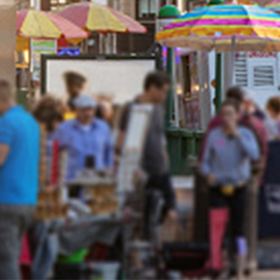
<svg viewBox="0 0 280 280">
<path fill-rule="evenodd" d="M 279 117 L 279 97 L 271 97 L 262 111 L 253 94 L 232 87 L 200 148 L 200 172 L 209 187 L 211 268 L 224 267 L 223 238 L 230 222 L 237 279 L 257 267 L 258 190 L 269 141 L 279 139 Z"/>
</svg>

